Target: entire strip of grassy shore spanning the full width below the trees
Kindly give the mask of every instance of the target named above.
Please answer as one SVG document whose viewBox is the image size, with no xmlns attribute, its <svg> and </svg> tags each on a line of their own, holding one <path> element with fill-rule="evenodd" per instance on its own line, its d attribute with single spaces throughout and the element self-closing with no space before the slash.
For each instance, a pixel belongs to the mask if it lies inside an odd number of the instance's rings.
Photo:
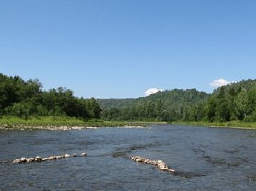
<svg viewBox="0 0 256 191">
<path fill-rule="evenodd" d="M 166 122 L 150 121 L 104 121 L 89 120 L 83 121 L 72 117 L 47 116 L 24 118 L 2 116 L 0 117 L 0 129 L 26 129 L 41 127 L 40 129 L 62 130 L 61 127 L 121 127 L 121 126 L 149 126 L 150 124 L 167 124 Z M 183 122 L 176 121 L 169 124 L 182 124 L 186 126 L 207 126 L 207 127 L 229 127 L 242 129 L 256 129 L 256 122 Z M 38 129 L 38 128 L 37 128 Z M 69 129 L 66 129 L 69 130 Z"/>
</svg>

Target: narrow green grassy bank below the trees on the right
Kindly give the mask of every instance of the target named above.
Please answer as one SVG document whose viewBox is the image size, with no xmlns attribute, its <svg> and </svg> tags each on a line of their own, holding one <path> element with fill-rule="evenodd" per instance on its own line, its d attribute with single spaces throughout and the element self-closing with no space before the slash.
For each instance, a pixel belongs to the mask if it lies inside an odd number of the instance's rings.
<svg viewBox="0 0 256 191">
<path fill-rule="evenodd" d="M 186 126 L 206 126 L 206 127 L 229 127 L 229 128 L 240 128 L 240 129 L 256 129 L 256 122 L 239 122 L 239 121 L 229 121 L 229 122 L 183 122 L 176 121 L 170 124 L 183 124 Z"/>
</svg>

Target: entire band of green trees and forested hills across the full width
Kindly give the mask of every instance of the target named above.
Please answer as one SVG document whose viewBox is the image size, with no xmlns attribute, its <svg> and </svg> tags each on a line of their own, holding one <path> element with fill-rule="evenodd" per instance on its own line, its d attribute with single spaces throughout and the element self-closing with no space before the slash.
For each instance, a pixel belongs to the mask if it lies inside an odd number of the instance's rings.
<svg viewBox="0 0 256 191">
<path fill-rule="evenodd" d="M 102 110 L 101 110 L 102 108 Z M 0 116 L 69 116 L 89 120 L 256 122 L 256 80 L 222 86 L 212 94 L 173 89 L 136 99 L 84 99 L 70 89 L 43 91 L 38 79 L 0 73 Z"/>
</svg>

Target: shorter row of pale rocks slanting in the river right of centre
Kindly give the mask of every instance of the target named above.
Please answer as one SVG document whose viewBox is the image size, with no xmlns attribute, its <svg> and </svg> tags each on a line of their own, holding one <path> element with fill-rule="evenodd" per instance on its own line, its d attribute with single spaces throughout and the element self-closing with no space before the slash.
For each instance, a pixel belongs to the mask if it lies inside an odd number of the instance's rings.
<svg viewBox="0 0 256 191">
<path fill-rule="evenodd" d="M 163 160 L 150 160 L 150 159 L 147 159 L 147 158 L 144 158 L 144 157 L 139 157 L 139 156 L 132 156 L 131 159 L 136 161 L 136 162 L 155 165 L 155 166 L 158 167 L 158 169 L 163 170 L 163 171 L 168 171 L 168 172 L 175 173 L 175 170 L 169 168 L 167 166 L 167 164 L 163 162 Z"/>
</svg>

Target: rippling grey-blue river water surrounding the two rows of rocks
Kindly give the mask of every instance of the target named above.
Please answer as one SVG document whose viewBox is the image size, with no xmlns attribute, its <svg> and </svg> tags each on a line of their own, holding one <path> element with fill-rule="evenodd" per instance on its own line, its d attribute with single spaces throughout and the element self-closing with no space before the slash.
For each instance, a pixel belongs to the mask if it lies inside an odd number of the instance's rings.
<svg viewBox="0 0 256 191">
<path fill-rule="evenodd" d="M 53 132 L 1 131 L 0 160 L 86 152 L 86 157 L 1 163 L 0 190 L 255 190 L 256 131 L 156 125 Z M 161 159 L 177 173 L 130 160 Z"/>
</svg>

